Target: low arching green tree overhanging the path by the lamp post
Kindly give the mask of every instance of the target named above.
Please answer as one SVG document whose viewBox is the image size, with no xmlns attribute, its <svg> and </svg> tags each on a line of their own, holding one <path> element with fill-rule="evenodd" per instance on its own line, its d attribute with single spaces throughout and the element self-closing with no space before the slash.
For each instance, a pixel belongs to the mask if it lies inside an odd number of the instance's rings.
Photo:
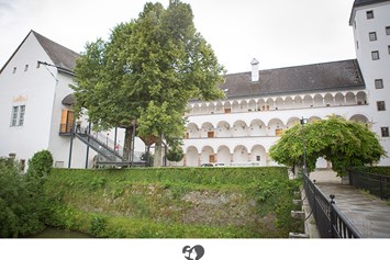
<svg viewBox="0 0 390 260">
<path fill-rule="evenodd" d="M 314 170 L 319 157 L 331 161 L 333 170 L 343 176 L 348 167 L 371 165 L 386 156 L 377 136 L 365 124 L 335 115 L 287 129 L 269 155 L 278 163 L 302 167 L 303 142 L 309 171 Z"/>
</svg>

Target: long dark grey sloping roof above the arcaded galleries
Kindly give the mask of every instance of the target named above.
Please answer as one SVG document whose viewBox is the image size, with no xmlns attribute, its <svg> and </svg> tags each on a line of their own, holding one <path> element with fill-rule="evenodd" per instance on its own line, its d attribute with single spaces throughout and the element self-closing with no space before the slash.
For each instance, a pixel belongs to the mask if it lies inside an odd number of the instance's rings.
<svg viewBox="0 0 390 260">
<path fill-rule="evenodd" d="M 227 98 L 272 95 L 292 92 L 345 91 L 364 89 L 365 82 L 356 59 L 319 63 L 259 70 L 259 80 L 250 71 L 225 76 L 219 86 Z"/>
</svg>

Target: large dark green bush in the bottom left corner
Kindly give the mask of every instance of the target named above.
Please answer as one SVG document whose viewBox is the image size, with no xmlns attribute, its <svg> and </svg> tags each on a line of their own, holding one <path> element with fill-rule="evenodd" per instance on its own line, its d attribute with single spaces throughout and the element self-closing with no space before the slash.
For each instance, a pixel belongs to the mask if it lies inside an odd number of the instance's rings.
<svg viewBox="0 0 390 260">
<path fill-rule="evenodd" d="M 22 176 L 12 160 L 0 158 L 0 237 L 29 236 L 44 228 L 47 211 L 40 185 Z"/>
</svg>

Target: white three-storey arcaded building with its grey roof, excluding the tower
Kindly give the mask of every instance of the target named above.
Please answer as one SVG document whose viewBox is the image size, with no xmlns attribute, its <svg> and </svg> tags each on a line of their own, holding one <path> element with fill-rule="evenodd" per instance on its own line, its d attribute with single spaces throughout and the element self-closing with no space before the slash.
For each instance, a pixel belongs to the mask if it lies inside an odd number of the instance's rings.
<svg viewBox="0 0 390 260">
<path fill-rule="evenodd" d="M 301 117 L 313 121 L 337 114 L 369 122 L 367 91 L 356 60 L 260 70 L 258 76 L 227 75 L 222 88 L 226 100 L 189 104 L 186 166 L 271 166 L 270 146 Z"/>
</svg>

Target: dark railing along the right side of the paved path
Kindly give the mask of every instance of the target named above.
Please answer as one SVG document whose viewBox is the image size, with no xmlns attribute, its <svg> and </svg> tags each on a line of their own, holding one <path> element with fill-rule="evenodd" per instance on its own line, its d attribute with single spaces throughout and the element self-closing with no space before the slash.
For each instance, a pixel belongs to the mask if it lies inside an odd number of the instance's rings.
<svg viewBox="0 0 390 260">
<path fill-rule="evenodd" d="M 349 169 L 349 184 L 367 190 L 381 200 L 390 199 L 390 176 L 380 176 L 352 168 Z"/>
</svg>

